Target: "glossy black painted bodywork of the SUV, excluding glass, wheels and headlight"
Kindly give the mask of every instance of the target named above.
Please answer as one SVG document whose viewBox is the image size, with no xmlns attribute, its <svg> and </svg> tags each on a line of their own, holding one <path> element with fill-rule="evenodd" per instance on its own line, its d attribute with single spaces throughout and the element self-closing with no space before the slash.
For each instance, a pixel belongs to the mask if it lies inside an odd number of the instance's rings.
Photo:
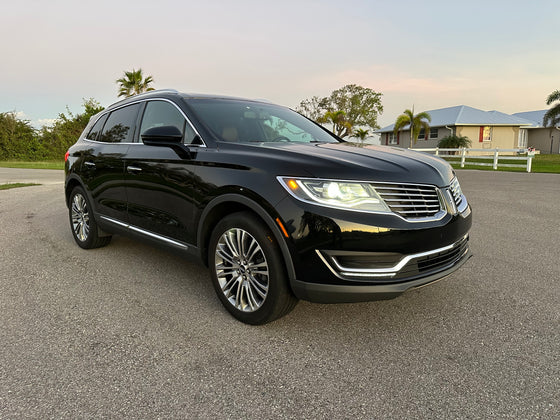
<svg viewBox="0 0 560 420">
<path fill-rule="evenodd" d="M 130 233 L 127 226 L 138 227 L 171 239 L 168 245 L 207 263 L 213 225 L 228 212 L 250 209 L 279 243 L 296 296 L 327 302 L 394 297 L 439 279 L 470 257 L 469 253 L 445 272 L 395 284 L 334 276 L 316 249 L 401 254 L 435 249 L 468 233 L 470 207 L 440 220 L 410 223 L 393 214 L 303 203 L 280 185 L 277 176 L 446 187 L 454 176 L 451 167 L 430 155 L 385 146 L 221 142 L 198 121 L 188 99 L 165 99 L 189 117 L 206 147 L 184 146 L 186 153 L 179 153 L 171 147 L 148 146 L 136 130 L 132 144 L 92 142 L 82 136 L 69 150 L 67 198 L 74 185 L 82 185 L 103 230 Z"/>
</svg>

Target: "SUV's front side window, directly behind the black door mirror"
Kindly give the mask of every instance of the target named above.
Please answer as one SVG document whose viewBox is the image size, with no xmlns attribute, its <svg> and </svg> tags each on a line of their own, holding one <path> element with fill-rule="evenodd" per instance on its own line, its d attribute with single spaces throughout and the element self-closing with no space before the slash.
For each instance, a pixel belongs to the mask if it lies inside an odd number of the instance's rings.
<svg viewBox="0 0 560 420">
<path fill-rule="evenodd" d="M 146 104 L 140 134 L 154 127 L 174 126 L 183 134 L 184 142 L 192 143 L 195 132 L 183 114 L 172 104 L 164 101 L 150 101 Z"/>
</svg>

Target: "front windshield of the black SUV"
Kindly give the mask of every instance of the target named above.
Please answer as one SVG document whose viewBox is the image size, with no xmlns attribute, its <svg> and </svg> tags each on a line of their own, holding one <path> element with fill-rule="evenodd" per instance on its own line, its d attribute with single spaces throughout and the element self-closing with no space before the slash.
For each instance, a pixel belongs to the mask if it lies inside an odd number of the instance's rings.
<svg viewBox="0 0 560 420">
<path fill-rule="evenodd" d="M 235 99 L 188 99 L 198 118 L 227 142 L 336 143 L 336 137 L 291 109 Z"/>
</svg>

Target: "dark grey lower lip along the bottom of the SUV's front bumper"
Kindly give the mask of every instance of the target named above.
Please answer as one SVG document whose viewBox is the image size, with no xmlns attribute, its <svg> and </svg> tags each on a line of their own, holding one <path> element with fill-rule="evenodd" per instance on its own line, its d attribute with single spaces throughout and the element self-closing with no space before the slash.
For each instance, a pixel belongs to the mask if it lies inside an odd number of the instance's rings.
<svg viewBox="0 0 560 420">
<path fill-rule="evenodd" d="M 340 285 L 294 280 L 292 281 L 292 289 L 298 298 L 317 303 L 350 303 L 393 299 L 407 290 L 426 286 L 447 277 L 467 262 L 471 256 L 472 253 L 467 244 L 464 253 L 451 266 L 434 274 L 408 281 L 375 285 Z"/>
</svg>

